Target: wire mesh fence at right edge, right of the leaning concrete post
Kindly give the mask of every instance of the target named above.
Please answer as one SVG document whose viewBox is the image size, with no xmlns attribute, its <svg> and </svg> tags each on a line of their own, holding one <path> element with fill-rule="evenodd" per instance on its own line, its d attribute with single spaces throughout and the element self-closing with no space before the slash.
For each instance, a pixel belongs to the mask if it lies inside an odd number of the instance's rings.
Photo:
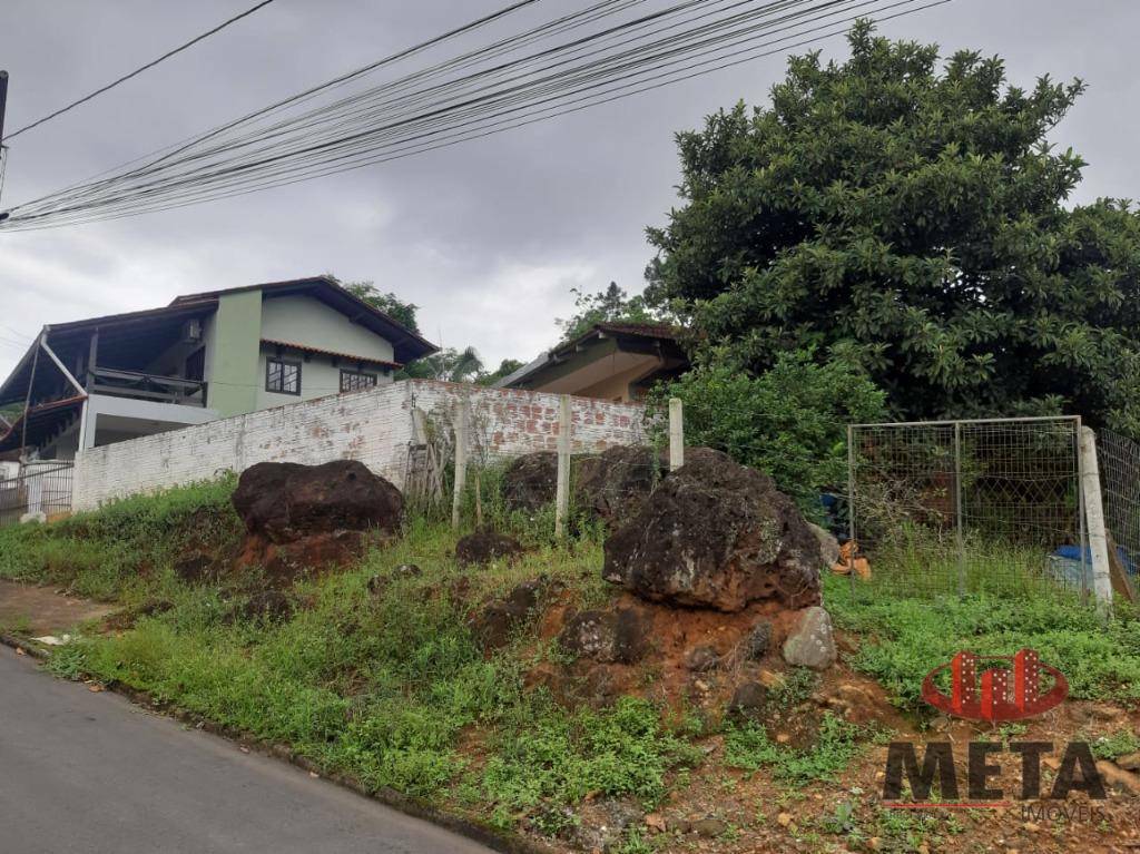
<svg viewBox="0 0 1140 854">
<path fill-rule="evenodd" d="M 1112 540 L 1109 560 L 1119 561 L 1134 583 L 1140 564 L 1140 444 L 1112 430 L 1098 430 L 1097 458 L 1105 527 Z"/>
</svg>

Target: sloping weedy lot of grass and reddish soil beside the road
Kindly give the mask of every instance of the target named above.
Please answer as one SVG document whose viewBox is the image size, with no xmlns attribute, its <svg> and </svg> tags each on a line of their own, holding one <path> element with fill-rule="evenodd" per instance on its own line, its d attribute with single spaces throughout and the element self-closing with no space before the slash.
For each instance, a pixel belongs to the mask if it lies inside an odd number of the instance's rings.
<svg viewBox="0 0 1140 854">
<path fill-rule="evenodd" d="M 1114 791 L 1094 820 L 1008 810 L 904 811 L 880 803 L 890 740 L 1088 740 L 1101 758 L 1140 749 L 1140 621 L 1107 628 L 1056 599 L 929 602 L 853 597 L 828 578 L 840 665 L 758 665 L 748 716 L 726 697 L 730 664 L 693 670 L 690 646 L 731 620 L 677 612 L 635 665 L 584 667 L 557 643 L 568 613 L 619 603 L 588 528 L 553 544 L 548 520 L 496 521 L 528 551 L 462 568 L 457 536 L 430 514 L 358 562 L 269 589 L 227 555 L 241 524 L 231 481 L 135 498 L 50 526 L 0 531 L 0 576 L 114 603 L 49 667 L 148 692 L 266 742 L 285 743 L 368 788 L 565 849 L 1110 851 L 1140 839 L 1137 802 Z M 207 560 L 209 559 L 209 560 Z M 527 618 L 491 643 L 487 615 L 522 583 Z M 8 618 L 13 619 L 13 618 Z M 26 628 L 26 624 L 9 628 Z M 654 625 L 661 626 L 661 620 Z M 936 717 L 923 675 L 960 649 L 1036 649 L 1072 699 L 1001 729 Z M 604 677 L 604 678 L 603 678 Z M 1043 765 L 1043 790 L 1059 751 Z M 1019 789 L 1013 754 L 997 780 Z M 964 791 L 964 770 L 963 791 Z M 993 782 L 991 784 L 994 784 Z M 1064 802 L 1089 805 L 1075 794 Z M 1056 805 L 1056 804 L 1054 804 Z"/>
</svg>

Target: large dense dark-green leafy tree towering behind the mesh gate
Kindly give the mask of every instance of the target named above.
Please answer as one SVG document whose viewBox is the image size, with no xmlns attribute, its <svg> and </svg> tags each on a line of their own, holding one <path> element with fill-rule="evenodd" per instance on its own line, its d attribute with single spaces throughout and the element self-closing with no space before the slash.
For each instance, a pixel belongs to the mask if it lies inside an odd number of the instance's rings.
<svg viewBox="0 0 1140 854">
<path fill-rule="evenodd" d="M 1072 206 L 1048 133 L 1084 90 L 891 42 L 790 59 L 771 104 L 678 136 L 684 205 L 650 229 L 648 296 L 741 367 L 813 348 L 896 415 L 1080 413 L 1140 432 L 1140 219 Z"/>
</svg>

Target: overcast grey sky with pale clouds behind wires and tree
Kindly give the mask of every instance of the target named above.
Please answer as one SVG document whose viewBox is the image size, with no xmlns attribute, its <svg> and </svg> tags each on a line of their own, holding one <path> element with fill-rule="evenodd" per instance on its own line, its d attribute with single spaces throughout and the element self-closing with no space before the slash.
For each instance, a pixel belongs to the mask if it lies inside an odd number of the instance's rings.
<svg viewBox="0 0 1140 854">
<path fill-rule="evenodd" d="M 546 0 L 544 9 L 586 0 Z M 3 0 L 9 130 L 252 0 Z M 6 208 L 87 178 L 484 14 L 504 0 L 276 0 L 140 78 L 13 140 Z M 551 15 L 551 11 L 545 11 Z M 954 0 L 881 32 L 1000 54 L 1010 76 L 1081 76 L 1053 139 L 1090 165 L 1076 201 L 1140 196 L 1140 3 Z M 832 40 L 825 54 L 841 55 Z M 635 292 L 644 228 L 675 203 L 673 133 L 743 98 L 783 57 L 426 155 L 109 223 L 0 234 L 0 377 L 43 324 L 152 308 L 180 293 L 325 271 L 421 307 L 425 335 L 489 366 L 534 358 L 571 287 Z"/>
</svg>

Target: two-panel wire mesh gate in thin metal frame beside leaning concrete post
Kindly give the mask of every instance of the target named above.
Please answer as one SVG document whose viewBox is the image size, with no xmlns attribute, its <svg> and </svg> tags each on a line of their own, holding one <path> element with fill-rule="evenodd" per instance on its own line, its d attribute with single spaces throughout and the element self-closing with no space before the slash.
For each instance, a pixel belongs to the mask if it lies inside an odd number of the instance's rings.
<svg viewBox="0 0 1140 854">
<path fill-rule="evenodd" d="M 1088 591 L 1080 418 L 855 424 L 848 438 L 849 532 L 870 569 L 857 587 Z"/>
</svg>

